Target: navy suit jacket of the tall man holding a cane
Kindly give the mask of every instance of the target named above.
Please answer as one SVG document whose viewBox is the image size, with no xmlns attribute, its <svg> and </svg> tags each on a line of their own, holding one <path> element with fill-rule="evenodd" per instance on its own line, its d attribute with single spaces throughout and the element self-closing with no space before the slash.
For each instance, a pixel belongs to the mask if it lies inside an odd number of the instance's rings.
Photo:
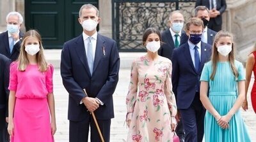
<svg viewBox="0 0 256 142">
<path fill-rule="evenodd" d="M 104 105 L 94 111 L 97 119 L 114 117 L 113 93 L 118 82 L 120 58 L 116 42 L 98 33 L 93 74 L 90 74 L 83 36 L 65 42 L 61 52 L 61 77 L 69 93 L 68 120 L 81 121 L 89 117 L 84 104 L 85 97 L 97 97 Z"/>
</svg>

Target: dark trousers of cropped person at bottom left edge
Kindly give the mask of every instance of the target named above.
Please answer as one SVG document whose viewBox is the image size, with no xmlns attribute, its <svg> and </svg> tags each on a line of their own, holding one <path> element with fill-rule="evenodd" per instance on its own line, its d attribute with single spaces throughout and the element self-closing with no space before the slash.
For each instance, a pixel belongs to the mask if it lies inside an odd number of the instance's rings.
<svg viewBox="0 0 256 142">
<path fill-rule="evenodd" d="M 9 134 L 7 132 L 7 125 L 5 120 L 5 108 L 0 109 L 0 142 L 8 142 Z"/>
</svg>

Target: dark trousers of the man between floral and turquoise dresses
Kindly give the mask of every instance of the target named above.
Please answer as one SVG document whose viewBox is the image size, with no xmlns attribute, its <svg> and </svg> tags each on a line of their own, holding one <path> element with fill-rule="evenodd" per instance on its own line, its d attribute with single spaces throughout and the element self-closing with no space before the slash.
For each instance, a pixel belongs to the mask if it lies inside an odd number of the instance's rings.
<svg viewBox="0 0 256 142">
<path fill-rule="evenodd" d="M 205 109 L 200 101 L 200 94 L 195 98 L 188 109 L 180 109 L 186 142 L 202 142 L 204 137 Z"/>
</svg>

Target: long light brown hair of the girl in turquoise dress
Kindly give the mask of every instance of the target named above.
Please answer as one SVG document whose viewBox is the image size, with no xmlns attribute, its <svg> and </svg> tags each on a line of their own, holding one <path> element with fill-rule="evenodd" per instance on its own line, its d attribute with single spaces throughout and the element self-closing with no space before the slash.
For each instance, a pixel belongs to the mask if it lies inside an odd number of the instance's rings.
<svg viewBox="0 0 256 142">
<path fill-rule="evenodd" d="M 232 41 L 232 51 L 228 54 L 228 61 L 230 63 L 230 66 L 231 66 L 231 69 L 232 69 L 232 72 L 233 74 L 235 75 L 236 79 L 238 77 L 238 72 L 237 72 L 237 69 L 235 67 L 235 52 L 234 52 L 234 40 L 233 40 L 233 35 L 232 33 L 229 33 L 228 31 L 219 31 L 216 36 L 215 36 L 215 39 L 214 39 L 214 43 L 212 44 L 212 74 L 211 74 L 211 77 L 210 79 L 213 80 L 214 79 L 214 76 L 216 74 L 216 70 L 217 70 L 217 62 L 218 62 L 218 50 L 217 50 L 217 47 L 216 47 L 216 43 L 220 40 L 221 37 L 230 37 L 231 38 L 231 41 Z"/>
</svg>

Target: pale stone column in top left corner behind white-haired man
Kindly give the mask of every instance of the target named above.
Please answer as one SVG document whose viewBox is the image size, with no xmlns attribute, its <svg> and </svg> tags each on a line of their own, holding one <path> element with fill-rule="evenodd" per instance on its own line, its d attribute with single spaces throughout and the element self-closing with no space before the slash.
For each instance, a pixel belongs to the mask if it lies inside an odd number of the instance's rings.
<svg viewBox="0 0 256 142">
<path fill-rule="evenodd" d="M 15 10 L 15 0 L 0 1 L 0 32 L 6 31 L 6 15 Z"/>
</svg>

